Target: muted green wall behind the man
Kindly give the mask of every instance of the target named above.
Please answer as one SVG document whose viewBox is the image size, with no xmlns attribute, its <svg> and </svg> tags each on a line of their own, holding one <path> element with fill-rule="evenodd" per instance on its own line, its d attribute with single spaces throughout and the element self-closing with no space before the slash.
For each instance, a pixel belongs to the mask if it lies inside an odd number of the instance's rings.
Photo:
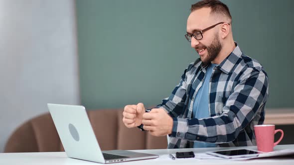
<svg viewBox="0 0 294 165">
<path fill-rule="evenodd" d="M 80 90 L 91 109 L 161 103 L 198 58 L 184 38 L 197 0 L 76 0 Z M 223 0 L 233 35 L 266 69 L 267 107 L 294 107 L 294 0 Z"/>
</svg>

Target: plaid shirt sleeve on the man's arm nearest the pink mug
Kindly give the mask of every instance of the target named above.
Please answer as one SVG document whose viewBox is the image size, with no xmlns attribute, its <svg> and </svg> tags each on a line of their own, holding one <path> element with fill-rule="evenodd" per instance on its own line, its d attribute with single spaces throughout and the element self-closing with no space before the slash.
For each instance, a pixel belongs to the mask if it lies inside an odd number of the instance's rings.
<svg viewBox="0 0 294 165">
<path fill-rule="evenodd" d="M 228 143 L 264 108 L 268 98 L 268 77 L 252 69 L 232 89 L 220 116 L 204 119 L 173 118 L 171 137 L 209 143 Z"/>
</svg>

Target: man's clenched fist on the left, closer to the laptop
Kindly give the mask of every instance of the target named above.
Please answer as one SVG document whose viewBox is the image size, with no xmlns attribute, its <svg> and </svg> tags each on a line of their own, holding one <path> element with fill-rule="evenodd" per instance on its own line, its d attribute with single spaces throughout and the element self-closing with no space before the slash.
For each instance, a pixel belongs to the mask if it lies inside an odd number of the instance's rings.
<svg viewBox="0 0 294 165">
<path fill-rule="evenodd" d="M 142 124 L 142 116 L 145 113 L 143 103 L 126 105 L 123 112 L 123 122 L 128 128 L 138 127 Z"/>
</svg>

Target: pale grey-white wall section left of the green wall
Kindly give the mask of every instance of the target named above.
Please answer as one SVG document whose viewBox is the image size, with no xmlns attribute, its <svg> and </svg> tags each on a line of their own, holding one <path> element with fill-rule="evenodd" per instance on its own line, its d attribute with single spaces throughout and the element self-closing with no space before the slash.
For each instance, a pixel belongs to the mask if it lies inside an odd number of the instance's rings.
<svg viewBox="0 0 294 165">
<path fill-rule="evenodd" d="M 79 104 L 73 0 L 0 0 L 0 152 L 46 103 Z"/>
</svg>

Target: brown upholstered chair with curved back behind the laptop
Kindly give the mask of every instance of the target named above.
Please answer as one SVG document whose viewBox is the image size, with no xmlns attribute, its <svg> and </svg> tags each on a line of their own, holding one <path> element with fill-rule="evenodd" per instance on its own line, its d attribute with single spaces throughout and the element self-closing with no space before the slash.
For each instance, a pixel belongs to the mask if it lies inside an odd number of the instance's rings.
<svg viewBox="0 0 294 165">
<path fill-rule="evenodd" d="M 127 128 L 122 109 L 87 111 L 101 150 L 166 149 L 166 136 L 154 137 L 138 128 Z M 18 127 L 4 152 L 64 151 L 49 113 L 34 117 Z"/>
</svg>

